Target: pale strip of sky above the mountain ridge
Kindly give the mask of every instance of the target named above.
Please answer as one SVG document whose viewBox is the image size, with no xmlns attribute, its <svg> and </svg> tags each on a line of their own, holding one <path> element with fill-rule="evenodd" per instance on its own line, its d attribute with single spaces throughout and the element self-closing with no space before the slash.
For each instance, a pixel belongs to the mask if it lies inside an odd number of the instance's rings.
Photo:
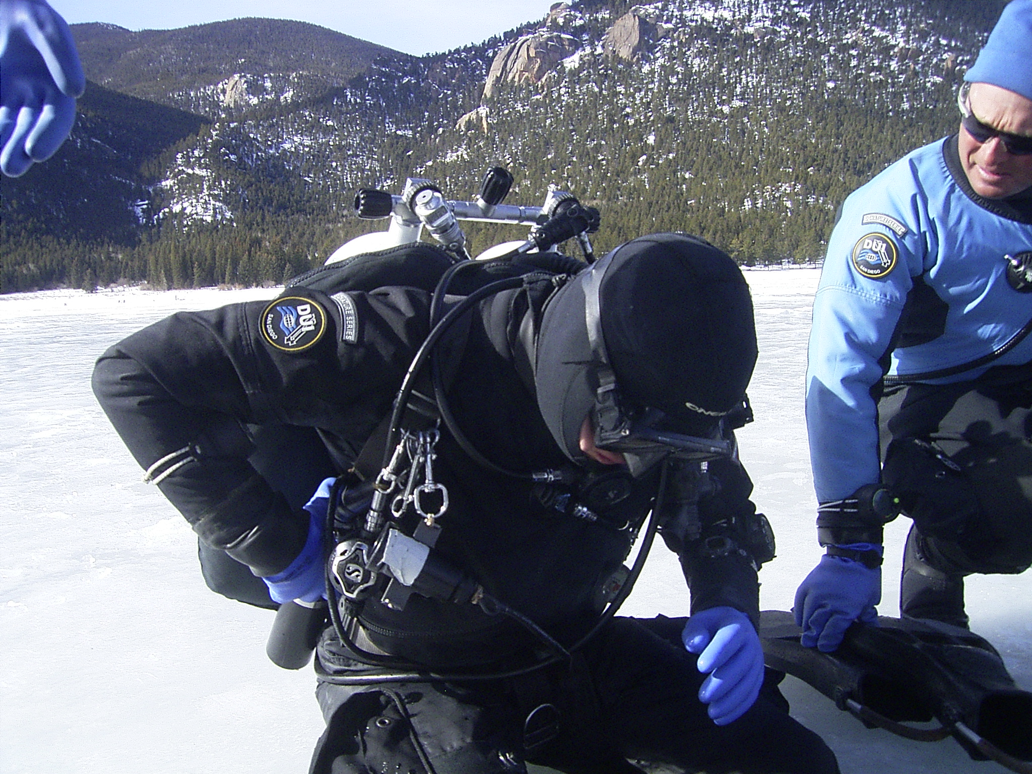
<svg viewBox="0 0 1032 774">
<path fill-rule="evenodd" d="M 556 0 L 51 0 L 68 24 L 167 30 L 243 17 L 290 19 L 422 56 L 542 19 Z"/>
</svg>

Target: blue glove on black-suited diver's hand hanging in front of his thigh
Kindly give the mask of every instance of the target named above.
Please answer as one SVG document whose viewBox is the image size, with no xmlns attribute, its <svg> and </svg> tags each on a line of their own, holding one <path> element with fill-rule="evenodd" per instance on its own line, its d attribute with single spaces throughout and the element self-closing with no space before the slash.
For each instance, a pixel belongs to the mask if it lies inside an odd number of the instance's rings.
<svg viewBox="0 0 1032 774">
<path fill-rule="evenodd" d="M 717 725 L 737 720 L 756 701 L 764 682 L 764 649 L 748 616 L 730 607 L 710 608 L 688 618 L 681 641 L 700 653 L 698 668 L 708 673 L 699 701 L 708 704 Z"/>
</svg>

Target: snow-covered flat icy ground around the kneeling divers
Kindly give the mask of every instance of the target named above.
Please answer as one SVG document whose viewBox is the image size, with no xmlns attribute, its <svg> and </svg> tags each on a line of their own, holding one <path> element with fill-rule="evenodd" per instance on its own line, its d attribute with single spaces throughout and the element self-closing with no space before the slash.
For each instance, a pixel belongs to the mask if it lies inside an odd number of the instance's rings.
<svg viewBox="0 0 1032 774">
<path fill-rule="evenodd" d="M 816 562 L 803 421 L 814 269 L 751 270 L 760 363 L 755 423 L 740 433 L 754 498 L 777 533 L 762 603 L 787 610 Z M 124 289 L 0 296 L 0 772 L 287 774 L 308 770 L 322 730 L 310 670 L 265 656 L 271 613 L 206 589 L 186 522 L 140 471 L 90 391 L 108 345 L 181 309 L 271 297 L 275 289 Z M 897 615 L 903 519 L 890 525 L 882 614 Z M 658 544 L 624 611 L 683 614 L 687 593 Z M 1032 573 L 974 577 L 975 631 L 1032 689 Z M 794 713 L 846 774 L 954 774 L 953 741 L 868 731 L 789 678 Z"/>
</svg>

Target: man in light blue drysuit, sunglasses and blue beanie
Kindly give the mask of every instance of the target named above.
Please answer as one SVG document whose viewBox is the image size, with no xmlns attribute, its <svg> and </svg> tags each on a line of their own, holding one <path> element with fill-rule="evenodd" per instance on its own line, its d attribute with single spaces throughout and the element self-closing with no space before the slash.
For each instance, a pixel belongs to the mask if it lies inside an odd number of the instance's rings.
<svg viewBox="0 0 1032 774">
<path fill-rule="evenodd" d="M 913 523 L 904 617 L 967 626 L 964 576 L 1032 565 L 1032 0 L 965 74 L 957 134 L 844 202 L 813 304 L 806 417 L 827 554 L 796 594 L 837 649 Z"/>
</svg>

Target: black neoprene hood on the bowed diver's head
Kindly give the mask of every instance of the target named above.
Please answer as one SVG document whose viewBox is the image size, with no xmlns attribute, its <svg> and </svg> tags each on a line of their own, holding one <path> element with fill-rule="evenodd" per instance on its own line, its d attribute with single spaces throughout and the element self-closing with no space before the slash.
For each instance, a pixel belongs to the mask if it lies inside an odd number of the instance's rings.
<svg viewBox="0 0 1032 774">
<path fill-rule="evenodd" d="M 695 236 L 632 239 L 571 279 L 545 307 L 538 406 L 567 456 L 584 459 L 580 428 L 595 406 L 603 365 L 585 313 L 594 292 L 621 404 L 659 409 L 680 431 L 709 434 L 741 402 L 756 336 L 738 266 Z"/>
</svg>

